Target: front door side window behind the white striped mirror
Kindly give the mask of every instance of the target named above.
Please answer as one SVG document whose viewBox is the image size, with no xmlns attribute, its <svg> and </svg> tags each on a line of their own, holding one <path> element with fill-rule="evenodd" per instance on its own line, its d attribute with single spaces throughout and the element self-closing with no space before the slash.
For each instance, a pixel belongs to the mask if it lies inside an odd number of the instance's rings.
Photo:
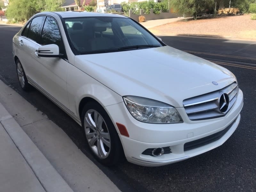
<svg viewBox="0 0 256 192">
<path fill-rule="evenodd" d="M 57 22 L 51 17 L 46 17 L 42 31 L 41 44 L 56 44 L 60 46 L 60 40 L 61 36 Z"/>
</svg>

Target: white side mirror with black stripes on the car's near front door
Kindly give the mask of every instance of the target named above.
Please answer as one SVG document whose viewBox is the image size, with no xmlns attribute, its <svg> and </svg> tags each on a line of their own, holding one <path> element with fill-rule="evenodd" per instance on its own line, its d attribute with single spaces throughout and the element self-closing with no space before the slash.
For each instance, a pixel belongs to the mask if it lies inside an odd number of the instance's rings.
<svg viewBox="0 0 256 192">
<path fill-rule="evenodd" d="M 43 45 L 37 50 L 38 57 L 61 57 L 59 46 L 56 44 Z"/>
</svg>

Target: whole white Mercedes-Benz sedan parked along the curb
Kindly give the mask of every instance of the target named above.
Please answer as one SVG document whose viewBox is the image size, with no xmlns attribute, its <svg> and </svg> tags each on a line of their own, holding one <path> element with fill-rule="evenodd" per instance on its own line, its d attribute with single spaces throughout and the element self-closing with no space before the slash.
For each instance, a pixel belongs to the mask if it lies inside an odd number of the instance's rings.
<svg viewBox="0 0 256 192">
<path fill-rule="evenodd" d="M 41 12 L 12 51 L 21 88 L 36 87 L 80 124 L 105 165 L 185 160 L 222 145 L 240 121 L 234 74 L 126 16 Z"/>
</svg>

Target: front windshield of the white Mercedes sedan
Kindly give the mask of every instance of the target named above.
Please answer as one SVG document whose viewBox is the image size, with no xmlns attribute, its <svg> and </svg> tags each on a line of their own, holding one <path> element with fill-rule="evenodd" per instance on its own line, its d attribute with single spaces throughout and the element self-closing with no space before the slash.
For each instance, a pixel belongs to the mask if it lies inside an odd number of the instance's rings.
<svg viewBox="0 0 256 192">
<path fill-rule="evenodd" d="M 67 18 L 65 24 L 71 44 L 79 54 L 126 51 L 163 46 L 129 18 Z M 64 27 L 66 27 L 64 26 Z"/>
</svg>

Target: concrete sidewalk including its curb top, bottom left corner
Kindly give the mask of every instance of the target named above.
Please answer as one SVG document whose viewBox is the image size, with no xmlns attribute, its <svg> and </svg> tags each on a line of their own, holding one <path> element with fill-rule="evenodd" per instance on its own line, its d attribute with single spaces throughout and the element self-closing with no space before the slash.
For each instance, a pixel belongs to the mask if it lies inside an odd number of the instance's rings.
<svg viewBox="0 0 256 192">
<path fill-rule="evenodd" d="M 73 191 L 1 103 L 0 172 L 0 191 Z"/>
</svg>

